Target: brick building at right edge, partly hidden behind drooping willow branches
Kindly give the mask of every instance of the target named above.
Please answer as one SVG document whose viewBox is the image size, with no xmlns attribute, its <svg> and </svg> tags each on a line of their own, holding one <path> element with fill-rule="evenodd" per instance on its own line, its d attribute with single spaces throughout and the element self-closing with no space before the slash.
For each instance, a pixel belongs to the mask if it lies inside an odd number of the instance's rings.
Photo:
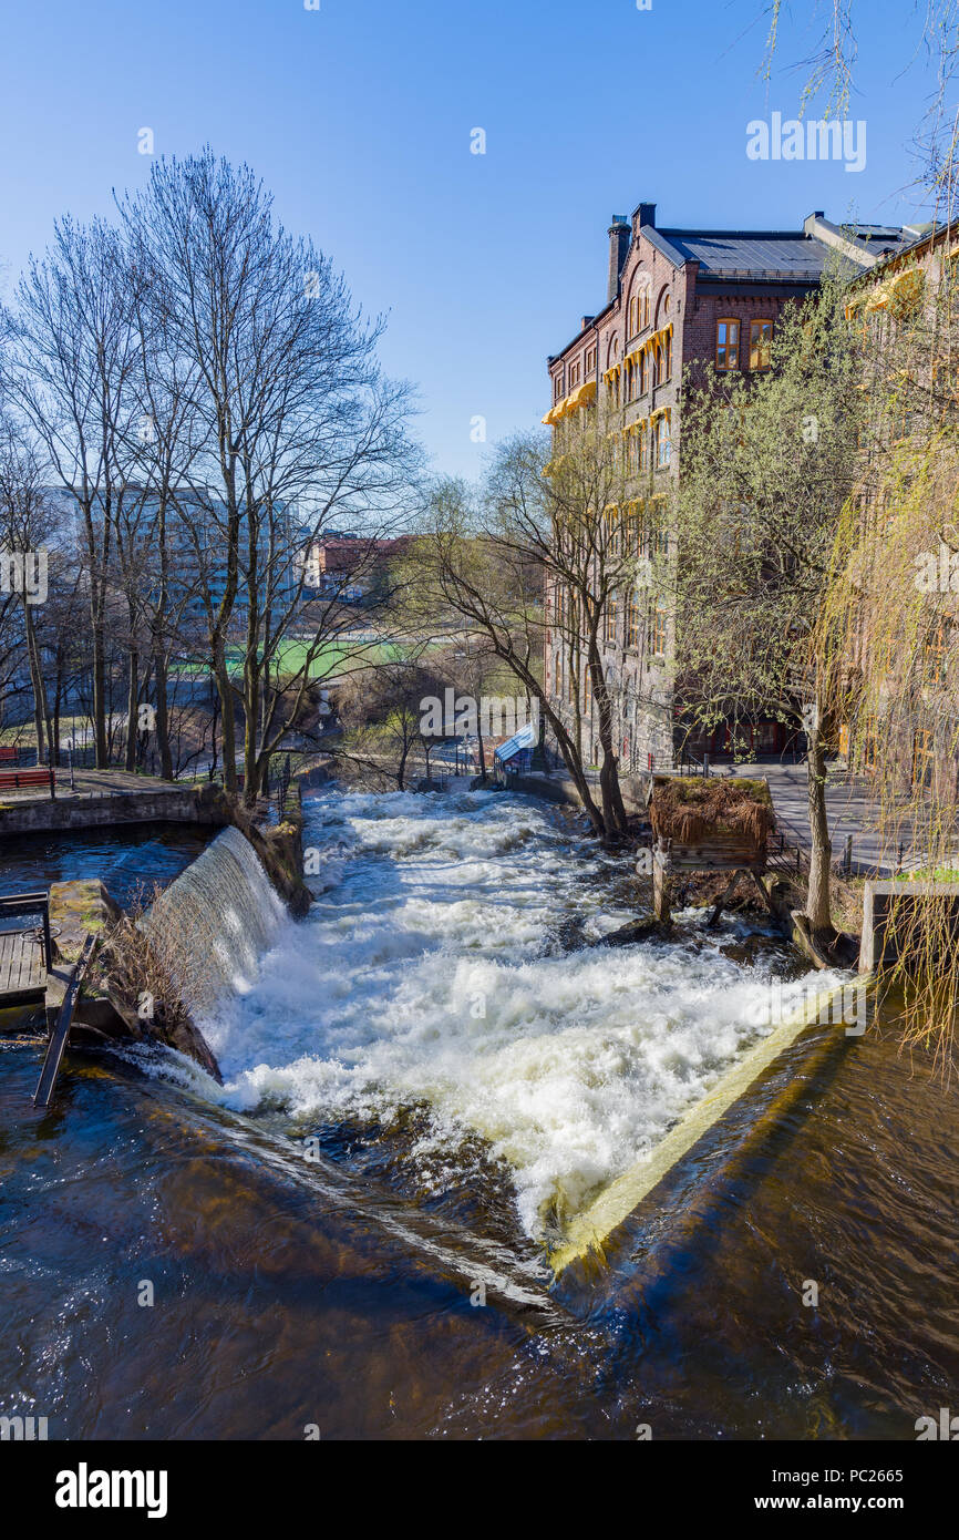
<svg viewBox="0 0 959 1540">
<path fill-rule="evenodd" d="M 860 274 L 850 285 L 847 303 L 848 320 L 862 328 L 867 370 L 885 380 L 871 391 L 873 433 L 856 493 L 862 539 L 868 545 L 880 534 L 884 548 L 896 545 L 899 551 L 905 542 L 916 570 L 904 574 L 896 565 L 902 556 L 893 557 L 893 581 L 907 581 L 921 593 L 928 588 L 928 622 L 916 618 L 911 634 L 902 634 L 890 648 L 887 636 L 871 631 L 865 582 L 864 611 L 847 664 L 853 679 L 882 678 L 877 662 L 885 678 L 877 691 L 857 701 L 853 718 L 839 724 L 839 756 L 862 775 L 891 773 L 904 795 L 930 790 L 939 804 L 959 798 L 959 559 L 951 547 L 939 550 L 934 541 L 927 553 L 913 548 L 919 530 L 905 488 L 933 434 L 948 428 L 954 436 L 959 420 L 957 273 L 959 220 L 930 225 Z M 890 393 L 890 379 L 901 380 L 899 399 Z M 905 510 L 899 505 L 901 488 Z M 930 494 L 934 490 L 933 482 Z M 924 554 L 933 561 L 934 576 L 921 584 Z M 864 567 L 865 573 L 873 570 Z M 879 567 L 871 581 L 888 576 L 890 570 Z M 856 701 L 854 691 L 851 698 Z"/>
</svg>

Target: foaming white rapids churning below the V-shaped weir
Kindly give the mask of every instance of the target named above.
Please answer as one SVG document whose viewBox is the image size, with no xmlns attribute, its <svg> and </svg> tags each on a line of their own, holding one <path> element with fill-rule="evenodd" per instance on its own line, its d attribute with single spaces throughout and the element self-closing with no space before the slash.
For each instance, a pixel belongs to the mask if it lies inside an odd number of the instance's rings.
<svg viewBox="0 0 959 1540">
<path fill-rule="evenodd" d="M 594 938 L 633 918 L 596 881 L 625 862 L 540 804 L 332 793 L 311 807 L 323 892 L 202 1023 L 239 1110 L 388 1124 L 425 1106 L 420 1186 L 443 1187 L 479 1133 L 537 1235 L 770 1030 L 768 975 L 713 941 L 568 950 L 576 916 Z M 799 1001 L 804 981 L 790 989 Z"/>
</svg>

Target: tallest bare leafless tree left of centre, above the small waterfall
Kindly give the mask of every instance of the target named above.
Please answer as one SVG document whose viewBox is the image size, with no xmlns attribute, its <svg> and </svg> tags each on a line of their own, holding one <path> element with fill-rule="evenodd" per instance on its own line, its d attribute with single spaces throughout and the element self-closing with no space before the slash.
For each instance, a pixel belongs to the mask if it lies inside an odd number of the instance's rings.
<svg viewBox="0 0 959 1540">
<path fill-rule="evenodd" d="M 382 322 L 365 322 L 329 259 L 276 223 L 246 166 L 211 151 L 159 162 L 120 211 L 151 265 L 165 348 L 195 367 L 197 454 L 177 507 L 206 614 L 228 790 L 237 787 L 229 647 L 240 644 L 252 801 L 285 730 L 271 679 L 303 695 L 325 645 L 312 638 L 288 676 L 282 644 L 303 596 L 296 556 L 334 517 L 362 511 L 379 528 L 397 511 L 411 470 L 408 393 L 380 374 Z"/>
</svg>

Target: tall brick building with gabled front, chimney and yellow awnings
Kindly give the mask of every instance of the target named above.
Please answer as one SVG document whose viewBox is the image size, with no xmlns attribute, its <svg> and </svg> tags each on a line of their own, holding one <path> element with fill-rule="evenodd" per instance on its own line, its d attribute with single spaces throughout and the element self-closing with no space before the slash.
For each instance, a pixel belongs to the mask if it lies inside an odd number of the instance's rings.
<svg viewBox="0 0 959 1540">
<path fill-rule="evenodd" d="M 656 551 L 680 557 L 668 528 L 668 504 L 682 474 L 687 367 L 768 368 L 771 334 L 784 305 L 804 300 L 819 285 L 831 253 L 851 263 L 853 273 L 867 271 L 916 234 L 880 225 L 840 228 L 822 213 L 810 214 L 794 231 L 659 228 L 654 203 L 640 203 L 631 220 L 614 216 L 606 303 L 599 314 L 585 316 L 576 337 L 550 357 L 551 407 L 543 422 L 559 430 L 565 419 L 597 407 L 622 414 L 634 465 L 630 496 L 637 510 L 639 556 Z M 562 594 L 550 596 L 551 607 L 562 602 Z M 673 624 L 654 593 L 643 591 L 639 602 L 637 619 L 637 594 L 623 596 L 603 638 L 625 772 L 648 768 L 650 756 L 659 767 L 670 765 L 683 741 L 682 702 L 670 668 Z M 550 698 L 570 721 L 563 645 L 556 628 L 546 630 L 543 667 Z M 588 698 L 580 708 L 585 747 L 594 758 Z M 756 753 L 776 753 L 785 745 L 780 722 L 757 719 L 751 732 Z M 728 728 L 708 744 L 688 747 L 713 756 L 730 753 Z"/>
</svg>

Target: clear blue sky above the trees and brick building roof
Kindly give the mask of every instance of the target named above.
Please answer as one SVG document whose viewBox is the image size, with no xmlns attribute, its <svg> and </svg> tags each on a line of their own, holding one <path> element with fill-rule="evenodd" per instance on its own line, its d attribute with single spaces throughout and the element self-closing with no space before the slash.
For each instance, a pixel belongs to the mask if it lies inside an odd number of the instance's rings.
<svg viewBox="0 0 959 1540">
<path fill-rule="evenodd" d="M 140 128 L 157 154 L 209 142 L 251 163 L 363 306 L 388 311 L 383 362 L 419 387 L 436 467 L 474 474 L 471 419 L 490 442 L 536 424 L 546 354 L 603 303 L 613 213 L 648 200 L 662 225 L 719 228 L 916 214 L 908 142 L 930 75 L 911 0 L 857 0 L 860 174 L 747 159 L 750 119 L 794 116 L 790 66 L 819 35 L 813 0 L 794 0 L 767 89 L 764 5 L 8 0 L 3 288 L 57 214 L 109 213 L 111 188 L 145 180 Z"/>
</svg>

